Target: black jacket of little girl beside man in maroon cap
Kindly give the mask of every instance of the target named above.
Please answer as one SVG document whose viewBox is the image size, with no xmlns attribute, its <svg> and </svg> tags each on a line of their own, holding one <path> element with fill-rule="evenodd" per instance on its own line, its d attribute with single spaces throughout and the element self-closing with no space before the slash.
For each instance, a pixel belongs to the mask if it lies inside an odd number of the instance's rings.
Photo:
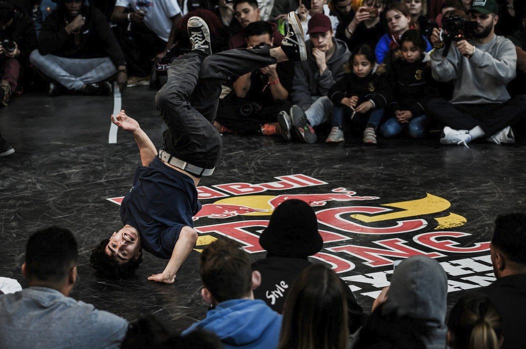
<svg viewBox="0 0 526 349">
<path fill-rule="evenodd" d="M 358 103 L 372 100 L 375 108 L 383 108 L 390 102 L 389 84 L 385 76 L 371 72 L 368 76 L 359 78 L 354 73 L 346 73 L 327 93 L 332 103 L 341 105 L 343 98 L 358 96 Z"/>
</svg>

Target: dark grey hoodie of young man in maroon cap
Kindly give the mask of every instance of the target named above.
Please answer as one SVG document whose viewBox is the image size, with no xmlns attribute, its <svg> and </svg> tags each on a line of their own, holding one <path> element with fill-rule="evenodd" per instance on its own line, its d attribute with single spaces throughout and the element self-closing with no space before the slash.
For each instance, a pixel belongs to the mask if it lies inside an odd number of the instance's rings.
<svg viewBox="0 0 526 349">
<path fill-rule="evenodd" d="M 307 41 L 307 60 L 295 62 L 294 80 L 292 80 L 292 103 L 307 110 L 312 96 L 327 96 L 327 92 L 345 73 L 344 65 L 349 61 L 347 45 L 333 38 L 335 51 L 327 62 L 327 69 L 320 75 L 316 60 L 312 57 L 312 42 Z"/>
</svg>

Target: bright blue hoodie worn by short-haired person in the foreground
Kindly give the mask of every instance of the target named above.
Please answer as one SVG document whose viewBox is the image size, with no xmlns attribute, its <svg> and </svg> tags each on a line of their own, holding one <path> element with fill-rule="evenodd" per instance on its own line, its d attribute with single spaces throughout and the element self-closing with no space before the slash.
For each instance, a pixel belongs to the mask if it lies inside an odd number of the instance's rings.
<svg viewBox="0 0 526 349">
<path fill-rule="evenodd" d="M 272 349 L 278 346 L 281 320 L 262 300 L 231 299 L 217 304 L 182 334 L 203 329 L 214 332 L 225 348 Z"/>
</svg>

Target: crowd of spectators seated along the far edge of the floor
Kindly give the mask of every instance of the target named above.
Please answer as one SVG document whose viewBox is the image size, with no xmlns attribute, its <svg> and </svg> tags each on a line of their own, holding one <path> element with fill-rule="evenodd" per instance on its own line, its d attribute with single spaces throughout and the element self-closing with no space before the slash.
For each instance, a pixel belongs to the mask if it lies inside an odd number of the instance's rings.
<svg viewBox="0 0 526 349">
<path fill-rule="evenodd" d="M 2 0 L 0 103 L 43 84 L 50 96 L 107 95 L 113 81 L 120 90 L 159 88 L 170 62 L 189 49 L 190 16 L 206 20 L 217 52 L 278 45 L 292 10 L 308 59 L 224 81 L 214 123 L 221 133 L 314 143 L 321 132 L 327 143 L 376 144 L 378 133 L 422 138 L 443 128 L 443 144 L 513 143 L 510 126 L 526 110 L 525 7 L 518 0 Z M 463 25 L 469 21 L 474 28 Z M 13 152 L 0 136 L 0 156 Z"/>
</svg>

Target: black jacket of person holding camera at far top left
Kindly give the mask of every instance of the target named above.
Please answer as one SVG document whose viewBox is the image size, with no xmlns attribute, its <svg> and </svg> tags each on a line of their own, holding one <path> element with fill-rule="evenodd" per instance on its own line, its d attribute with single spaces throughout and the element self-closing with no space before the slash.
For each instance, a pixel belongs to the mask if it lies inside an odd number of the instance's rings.
<svg viewBox="0 0 526 349">
<path fill-rule="evenodd" d="M 0 39 L 11 40 L 18 45 L 19 61 L 27 62 L 31 52 L 37 48 L 35 24 L 29 15 L 22 9 L 15 7 L 13 23 L 0 30 Z"/>
</svg>

